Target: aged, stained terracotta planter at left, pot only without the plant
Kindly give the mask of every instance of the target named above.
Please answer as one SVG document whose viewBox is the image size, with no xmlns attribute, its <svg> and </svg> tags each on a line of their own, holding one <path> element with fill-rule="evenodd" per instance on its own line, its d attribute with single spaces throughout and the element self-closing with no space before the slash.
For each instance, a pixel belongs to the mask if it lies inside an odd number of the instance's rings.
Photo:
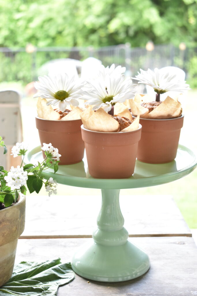
<svg viewBox="0 0 197 296">
<path fill-rule="evenodd" d="M 25 228 L 25 196 L 0 210 L 0 287 L 12 276 L 18 237 Z"/>
</svg>

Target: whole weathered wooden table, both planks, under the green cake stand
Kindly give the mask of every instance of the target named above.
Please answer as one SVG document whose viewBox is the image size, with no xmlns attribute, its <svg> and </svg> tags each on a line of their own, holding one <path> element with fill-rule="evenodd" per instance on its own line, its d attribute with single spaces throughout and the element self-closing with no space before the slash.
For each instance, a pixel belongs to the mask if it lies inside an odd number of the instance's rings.
<svg viewBox="0 0 197 296">
<path fill-rule="evenodd" d="M 27 196 L 26 226 L 18 242 L 16 263 L 56 257 L 69 262 L 76 248 L 88 240 L 79 237 L 91 236 L 100 197 L 56 198 L 62 206 L 54 209 L 46 196 Z M 149 254 L 149 271 L 119 283 L 88 281 L 76 275 L 74 281 L 58 289 L 58 296 L 197 295 L 197 247 L 172 197 L 134 197 L 136 208 L 144 205 L 140 215 L 130 207 L 130 200 L 129 196 L 120 198 L 125 224 L 130 240 Z"/>
</svg>

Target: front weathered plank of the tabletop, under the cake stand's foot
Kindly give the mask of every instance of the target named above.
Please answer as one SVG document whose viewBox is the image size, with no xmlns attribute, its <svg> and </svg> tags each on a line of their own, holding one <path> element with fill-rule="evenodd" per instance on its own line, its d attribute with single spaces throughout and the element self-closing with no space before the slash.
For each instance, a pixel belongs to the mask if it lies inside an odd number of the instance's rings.
<svg viewBox="0 0 197 296">
<path fill-rule="evenodd" d="M 88 239 L 20 239 L 16 262 L 60 257 L 69 262 Z M 143 276 L 119 283 L 76 279 L 58 289 L 58 296 L 192 296 L 197 295 L 197 248 L 191 237 L 134 237 L 130 239 L 150 257 Z"/>
</svg>

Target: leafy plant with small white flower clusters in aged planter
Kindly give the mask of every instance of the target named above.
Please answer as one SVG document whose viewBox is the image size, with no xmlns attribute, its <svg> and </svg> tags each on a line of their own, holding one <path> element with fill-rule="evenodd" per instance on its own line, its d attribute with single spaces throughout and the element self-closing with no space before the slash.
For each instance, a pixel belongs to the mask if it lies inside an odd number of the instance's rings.
<svg viewBox="0 0 197 296">
<path fill-rule="evenodd" d="M 3 147 L 6 153 L 6 146 L 1 137 L 0 147 Z M 18 237 L 25 227 L 26 185 L 30 193 L 38 193 L 44 184 L 49 195 L 56 194 L 56 181 L 53 178 L 43 181 L 41 173 L 49 167 L 56 172 L 61 155 L 50 144 L 44 144 L 42 149 L 45 151 L 42 163 L 30 163 L 22 167 L 22 160 L 21 166 L 12 166 L 9 172 L 0 166 L 0 287 L 12 276 Z M 12 148 L 14 157 L 22 155 L 24 159 L 26 152 L 24 143 L 17 143 Z"/>
</svg>

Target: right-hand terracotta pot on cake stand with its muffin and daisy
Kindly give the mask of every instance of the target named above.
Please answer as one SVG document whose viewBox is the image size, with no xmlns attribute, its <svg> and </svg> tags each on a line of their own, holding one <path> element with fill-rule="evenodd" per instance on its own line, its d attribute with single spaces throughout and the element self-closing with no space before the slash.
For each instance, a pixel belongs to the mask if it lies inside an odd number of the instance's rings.
<svg viewBox="0 0 197 296">
<path fill-rule="evenodd" d="M 170 74 L 168 70 L 155 68 L 154 71 L 140 71 L 134 79 L 138 80 L 138 83 L 152 86 L 156 98 L 153 101 L 146 95 L 137 95 L 134 98 L 135 106 L 130 100 L 132 113 L 136 115 L 136 106 L 141 113 L 142 133 L 137 159 L 145 163 L 168 163 L 176 157 L 184 115 L 178 99 L 168 96 L 162 102 L 160 94 L 167 91 L 182 93 L 189 89 L 189 85 L 185 81 L 180 81 L 176 75 Z"/>
</svg>

